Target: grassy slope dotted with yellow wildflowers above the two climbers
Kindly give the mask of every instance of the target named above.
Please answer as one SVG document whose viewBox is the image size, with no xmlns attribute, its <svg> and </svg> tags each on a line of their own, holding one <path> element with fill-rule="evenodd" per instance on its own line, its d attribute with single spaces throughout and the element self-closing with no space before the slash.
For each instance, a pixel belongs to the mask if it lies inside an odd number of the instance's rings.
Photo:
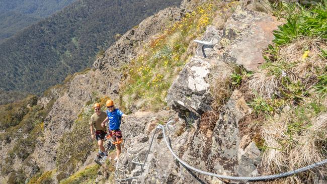
<svg viewBox="0 0 327 184">
<path fill-rule="evenodd" d="M 167 90 L 194 55 L 196 44 L 193 40 L 202 36 L 217 10 L 226 16 L 234 6 L 234 3 L 208 1 L 145 44 L 137 58 L 123 68 L 127 77 L 120 87 L 120 103 L 124 110 L 128 112 L 132 104 L 138 109 L 146 107 L 153 111 L 165 107 Z"/>
</svg>

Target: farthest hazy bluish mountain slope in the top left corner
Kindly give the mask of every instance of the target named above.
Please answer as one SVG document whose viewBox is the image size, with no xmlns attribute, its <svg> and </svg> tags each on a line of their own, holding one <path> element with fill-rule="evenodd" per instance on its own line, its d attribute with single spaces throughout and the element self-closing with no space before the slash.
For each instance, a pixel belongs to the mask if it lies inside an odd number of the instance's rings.
<svg viewBox="0 0 327 184">
<path fill-rule="evenodd" d="M 76 0 L 0 0 L 0 43 Z"/>
</svg>

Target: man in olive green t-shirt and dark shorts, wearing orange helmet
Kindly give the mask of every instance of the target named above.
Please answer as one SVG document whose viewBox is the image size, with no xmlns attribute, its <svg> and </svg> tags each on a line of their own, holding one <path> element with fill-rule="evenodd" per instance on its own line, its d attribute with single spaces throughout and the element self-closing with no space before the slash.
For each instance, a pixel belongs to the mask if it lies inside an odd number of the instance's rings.
<svg viewBox="0 0 327 184">
<path fill-rule="evenodd" d="M 93 107 L 94 107 L 94 110 L 96 111 L 96 113 L 94 113 L 91 116 L 90 123 L 89 123 L 90 130 L 91 130 L 91 137 L 92 137 L 92 139 L 95 139 L 95 138 L 97 139 L 99 149 L 104 153 L 105 156 L 108 156 L 108 153 L 107 153 L 105 147 L 103 146 L 103 142 L 104 142 L 104 139 L 107 134 L 106 127 L 102 127 L 102 125 L 101 125 L 103 120 L 105 120 L 107 118 L 107 114 L 105 112 L 101 111 L 101 106 L 99 103 L 95 103 Z M 95 131 L 94 131 L 94 128 L 95 128 Z M 101 158 L 100 154 L 101 154 L 101 152 L 97 153 L 98 159 Z"/>
</svg>

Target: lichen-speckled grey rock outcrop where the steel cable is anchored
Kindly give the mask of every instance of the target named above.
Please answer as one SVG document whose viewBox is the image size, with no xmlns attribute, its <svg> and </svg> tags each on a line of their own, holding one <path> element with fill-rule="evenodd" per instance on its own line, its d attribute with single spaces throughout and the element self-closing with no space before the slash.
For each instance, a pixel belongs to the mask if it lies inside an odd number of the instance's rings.
<svg viewBox="0 0 327 184">
<path fill-rule="evenodd" d="M 145 160 L 152 135 L 157 131 L 143 176 L 134 180 L 141 183 L 217 182 L 216 179 L 188 170 L 175 161 L 165 141 L 162 140 L 161 130 L 155 130 L 159 120 L 169 116 L 176 121 L 175 128 L 169 132 L 172 148 L 188 164 L 204 171 L 226 175 L 248 176 L 256 173 L 257 165 L 261 161 L 260 152 L 254 143 L 241 148 L 238 135 L 238 124 L 249 112 L 250 108 L 242 95 L 234 91 L 213 129 L 203 129 L 200 121 L 194 123 L 195 128 L 185 128 L 186 122 L 172 111 L 161 111 L 156 114 L 140 113 L 141 117 L 135 117 L 136 114 L 128 117 L 126 121 L 134 123 L 123 125 L 126 146 L 118 162 L 118 178 L 139 175 L 141 166 L 132 160 L 136 157 L 141 162 Z"/>
</svg>

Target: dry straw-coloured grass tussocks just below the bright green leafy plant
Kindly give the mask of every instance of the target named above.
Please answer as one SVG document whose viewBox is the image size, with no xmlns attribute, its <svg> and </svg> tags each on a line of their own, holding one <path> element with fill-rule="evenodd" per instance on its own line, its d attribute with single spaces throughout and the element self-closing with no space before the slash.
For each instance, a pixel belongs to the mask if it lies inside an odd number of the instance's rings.
<svg viewBox="0 0 327 184">
<path fill-rule="evenodd" d="M 254 98 L 254 90 L 264 99 L 271 99 L 277 94 L 282 85 L 281 72 L 292 81 L 300 81 L 305 89 L 310 89 L 317 82 L 317 74 L 323 72 L 327 60 L 319 56 L 320 48 L 327 48 L 325 40 L 319 38 L 305 38 L 281 47 L 277 61 L 259 69 L 247 82 L 242 85 L 242 91 Z M 308 57 L 302 58 L 305 51 Z M 283 63 L 283 64 L 281 64 Z"/>
</svg>

